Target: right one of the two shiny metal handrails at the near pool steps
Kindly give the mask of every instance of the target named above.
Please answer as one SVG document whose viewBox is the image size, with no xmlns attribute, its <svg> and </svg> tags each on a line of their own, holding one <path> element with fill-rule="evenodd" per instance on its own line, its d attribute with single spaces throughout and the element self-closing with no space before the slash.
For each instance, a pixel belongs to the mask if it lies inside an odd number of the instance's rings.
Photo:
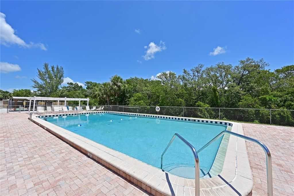
<svg viewBox="0 0 294 196">
<path fill-rule="evenodd" d="M 241 135 L 241 134 L 230 132 L 230 131 L 223 131 L 220 134 L 218 134 L 216 137 L 214 137 L 212 140 L 210 140 L 207 144 L 205 144 L 202 148 L 200 148 L 197 151 L 197 153 L 201 152 L 209 144 L 216 141 L 218 138 L 220 138 L 225 133 L 228 133 L 228 134 L 231 134 L 231 135 L 234 135 L 234 136 L 249 140 L 251 142 L 255 142 L 256 144 L 260 145 L 263 148 L 263 150 L 265 152 L 265 155 L 266 155 L 266 173 L 267 173 L 267 180 L 268 180 L 268 196 L 272 196 L 273 195 L 272 157 L 270 155 L 270 151 L 268 150 L 268 148 L 262 142 L 258 141 L 257 139 L 253 139 L 251 137 L 247 137 L 245 135 Z"/>
</svg>

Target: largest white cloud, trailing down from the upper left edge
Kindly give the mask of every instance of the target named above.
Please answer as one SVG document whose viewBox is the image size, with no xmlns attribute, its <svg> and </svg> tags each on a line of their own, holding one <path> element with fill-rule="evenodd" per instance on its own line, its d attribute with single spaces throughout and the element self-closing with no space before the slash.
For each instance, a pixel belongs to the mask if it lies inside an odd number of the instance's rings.
<svg viewBox="0 0 294 196">
<path fill-rule="evenodd" d="M 1 44 L 4 46 L 10 45 L 19 45 L 25 48 L 40 48 L 41 50 L 47 50 L 44 44 L 42 43 L 33 43 L 30 42 L 27 44 L 24 40 L 22 40 L 15 33 L 15 30 L 8 24 L 5 20 L 5 14 L 0 12 L 0 40 Z"/>
</svg>

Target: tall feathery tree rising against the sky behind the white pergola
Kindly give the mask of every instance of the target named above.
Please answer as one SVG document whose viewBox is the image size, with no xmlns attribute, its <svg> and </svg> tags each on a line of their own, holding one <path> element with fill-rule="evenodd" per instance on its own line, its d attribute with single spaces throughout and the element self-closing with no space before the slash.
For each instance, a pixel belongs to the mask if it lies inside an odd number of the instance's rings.
<svg viewBox="0 0 294 196">
<path fill-rule="evenodd" d="M 49 97 L 60 88 L 64 79 L 64 71 L 63 67 L 59 67 L 58 65 L 49 67 L 48 63 L 44 63 L 43 69 L 44 70 L 37 68 L 37 77 L 39 81 L 31 79 L 33 82 L 32 87 L 37 89 L 40 96 Z"/>
</svg>

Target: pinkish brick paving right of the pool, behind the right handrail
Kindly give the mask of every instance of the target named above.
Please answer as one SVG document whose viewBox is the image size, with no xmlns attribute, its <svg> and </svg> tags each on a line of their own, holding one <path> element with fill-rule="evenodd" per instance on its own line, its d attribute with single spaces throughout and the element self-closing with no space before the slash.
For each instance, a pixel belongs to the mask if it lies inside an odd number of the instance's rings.
<svg viewBox="0 0 294 196">
<path fill-rule="evenodd" d="M 244 134 L 263 142 L 272 156 L 273 195 L 294 195 L 294 127 L 242 123 Z M 246 141 L 253 175 L 252 195 L 267 195 L 263 149 Z"/>
</svg>

